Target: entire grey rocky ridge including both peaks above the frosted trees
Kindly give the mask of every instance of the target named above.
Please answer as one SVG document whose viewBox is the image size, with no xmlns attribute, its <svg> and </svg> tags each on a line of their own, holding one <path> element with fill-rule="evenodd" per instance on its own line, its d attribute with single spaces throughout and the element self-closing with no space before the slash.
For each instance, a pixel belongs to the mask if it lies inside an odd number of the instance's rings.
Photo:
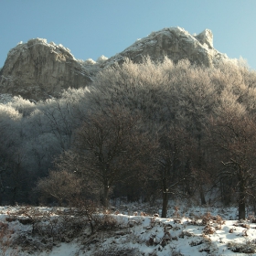
<svg viewBox="0 0 256 256">
<path fill-rule="evenodd" d="M 180 27 L 164 28 L 138 39 L 111 59 L 101 56 L 97 62 L 92 59 L 79 61 L 68 48 L 37 38 L 9 51 L 5 66 L 0 70 L 0 93 L 36 101 L 58 97 L 63 89 L 90 85 L 91 77 L 115 62 L 122 63 L 128 58 L 139 63 L 147 56 L 155 61 L 165 56 L 174 62 L 189 59 L 207 67 L 228 59 L 213 48 L 213 36 L 208 29 L 192 36 Z"/>
</svg>

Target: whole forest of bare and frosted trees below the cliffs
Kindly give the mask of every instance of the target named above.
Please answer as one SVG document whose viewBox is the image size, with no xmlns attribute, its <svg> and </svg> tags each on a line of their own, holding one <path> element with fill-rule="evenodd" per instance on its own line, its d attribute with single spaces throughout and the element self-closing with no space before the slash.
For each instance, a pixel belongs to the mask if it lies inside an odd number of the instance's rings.
<svg viewBox="0 0 256 256">
<path fill-rule="evenodd" d="M 71 85 L 70 85 L 71 86 Z M 4 101 L 5 100 L 5 101 Z M 59 99 L 0 103 L 0 204 L 163 202 L 213 189 L 256 211 L 256 72 L 126 60 Z"/>
</svg>

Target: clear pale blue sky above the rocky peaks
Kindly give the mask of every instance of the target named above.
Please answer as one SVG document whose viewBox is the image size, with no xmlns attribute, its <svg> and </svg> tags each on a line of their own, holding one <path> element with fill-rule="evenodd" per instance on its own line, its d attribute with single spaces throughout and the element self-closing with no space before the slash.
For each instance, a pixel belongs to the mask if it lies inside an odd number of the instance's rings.
<svg viewBox="0 0 256 256">
<path fill-rule="evenodd" d="M 0 67 L 10 48 L 30 38 L 96 60 L 177 26 L 190 34 L 211 29 L 214 48 L 256 69 L 256 0 L 0 0 Z"/>
</svg>

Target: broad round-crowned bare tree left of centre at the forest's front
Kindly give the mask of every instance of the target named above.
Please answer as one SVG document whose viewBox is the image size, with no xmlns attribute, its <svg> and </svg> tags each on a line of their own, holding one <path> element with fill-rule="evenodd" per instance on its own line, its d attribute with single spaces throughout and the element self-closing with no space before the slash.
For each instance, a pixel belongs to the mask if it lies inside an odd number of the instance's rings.
<svg viewBox="0 0 256 256">
<path fill-rule="evenodd" d="M 100 182 L 102 203 L 108 207 L 112 187 L 133 176 L 151 146 L 141 131 L 140 117 L 115 108 L 91 113 L 77 133 L 73 150 L 80 155 L 84 174 Z"/>
</svg>

